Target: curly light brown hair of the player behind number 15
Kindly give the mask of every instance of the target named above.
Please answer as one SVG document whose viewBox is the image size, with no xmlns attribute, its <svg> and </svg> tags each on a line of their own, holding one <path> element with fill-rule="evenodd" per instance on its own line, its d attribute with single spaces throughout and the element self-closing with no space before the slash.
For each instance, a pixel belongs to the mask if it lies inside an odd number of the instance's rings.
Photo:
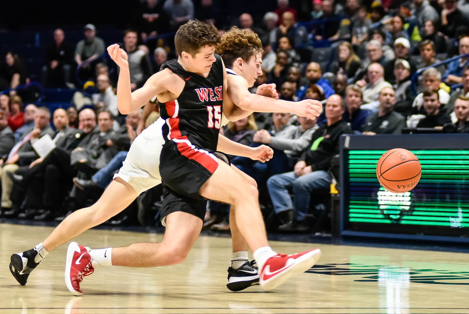
<svg viewBox="0 0 469 314">
<path fill-rule="evenodd" d="M 248 61 L 258 52 L 263 53 L 264 50 L 257 34 L 253 31 L 240 30 L 236 26 L 221 36 L 221 42 L 215 49 L 215 53 L 220 55 L 227 67 L 232 67 L 234 60 L 238 58 Z"/>
</svg>

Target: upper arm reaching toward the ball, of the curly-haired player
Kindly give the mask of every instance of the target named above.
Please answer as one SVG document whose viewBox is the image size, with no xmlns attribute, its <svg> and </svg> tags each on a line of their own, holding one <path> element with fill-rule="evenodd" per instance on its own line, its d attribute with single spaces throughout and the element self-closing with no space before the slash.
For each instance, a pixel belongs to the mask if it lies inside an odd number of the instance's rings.
<svg viewBox="0 0 469 314">
<path fill-rule="evenodd" d="M 292 102 L 251 94 L 248 90 L 248 82 L 240 76 L 233 75 L 229 78 L 227 92 L 234 105 L 247 112 L 287 112 L 310 119 L 316 119 L 322 112 L 322 104 L 317 100 L 305 99 Z M 232 120 L 236 118 L 233 112 L 225 111 L 224 113 L 229 120 Z"/>
</svg>

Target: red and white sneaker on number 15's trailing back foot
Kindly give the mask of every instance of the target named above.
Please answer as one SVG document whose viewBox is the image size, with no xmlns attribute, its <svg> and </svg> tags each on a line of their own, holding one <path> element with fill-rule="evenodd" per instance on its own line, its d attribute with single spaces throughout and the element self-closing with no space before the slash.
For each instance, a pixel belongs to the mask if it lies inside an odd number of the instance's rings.
<svg viewBox="0 0 469 314">
<path fill-rule="evenodd" d="M 91 260 L 89 247 L 83 247 L 76 242 L 68 245 L 67 261 L 65 262 L 65 284 L 68 291 L 76 296 L 82 295 L 80 290 L 80 283 L 83 281 L 83 276 L 91 275 L 94 269 L 98 266 Z"/>
</svg>

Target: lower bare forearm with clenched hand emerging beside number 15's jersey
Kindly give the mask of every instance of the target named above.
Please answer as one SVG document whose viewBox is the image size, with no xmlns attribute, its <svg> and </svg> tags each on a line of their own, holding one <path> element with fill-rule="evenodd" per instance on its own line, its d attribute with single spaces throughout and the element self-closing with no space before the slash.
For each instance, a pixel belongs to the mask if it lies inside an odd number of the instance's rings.
<svg viewBox="0 0 469 314">
<path fill-rule="evenodd" d="M 249 147 L 237 142 L 233 142 L 229 138 L 219 134 L 217 150 L 228 155 L 248 157 L 252 160 L 259 160 L 263 163 L 269 161 L 273 156 L 273 150 L 266 145 L 258 147 Z"/>
</svg>

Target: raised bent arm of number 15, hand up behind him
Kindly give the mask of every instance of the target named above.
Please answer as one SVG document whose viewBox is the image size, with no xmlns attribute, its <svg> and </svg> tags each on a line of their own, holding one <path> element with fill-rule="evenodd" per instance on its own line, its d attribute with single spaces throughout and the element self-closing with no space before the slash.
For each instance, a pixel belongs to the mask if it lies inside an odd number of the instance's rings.
<svg viewBox="0 0 469 314">
<path fill-rule="evenodd" d="M 107 47 L 107 52 L 111 59 L 119 66 L 117 107 L 122 114 L 134 112 L 142 108 L 155 95 L 161 95 L 169 91 L 167 86 L 174 81 L 175 75 L 172 75 L 172 72 L 169 70 L 163 70 L 152 75 L 142 88 L 132 92 L 127 53 L 117 44 Z"/>
</svg>

